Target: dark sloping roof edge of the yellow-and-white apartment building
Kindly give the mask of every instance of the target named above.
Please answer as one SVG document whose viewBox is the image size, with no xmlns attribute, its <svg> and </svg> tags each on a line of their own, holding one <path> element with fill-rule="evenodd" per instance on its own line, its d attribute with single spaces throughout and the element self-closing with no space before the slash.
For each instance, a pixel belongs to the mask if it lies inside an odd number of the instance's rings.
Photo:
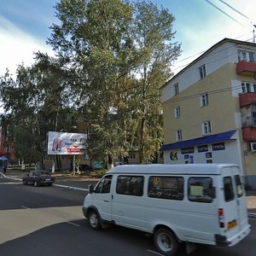
<svg viewBox="0 0 256 256">
<path fill-rule="evenodd" d="M 219 41 L 217 44 L 213 44 L 212 47 L 210 49 L 207 49 L 202 55 L 200 55 L 198 58 L 196 58 L 194 61 L 190 62 L 188 66 L 184 67 L 180 72 L 178 72 L 176 75 L 174 75 L 172 77 L 172 79 L 177 78 L 177 76 L 179 76 L 181 73 L 183 73 L 185 70 L 187 70 L 189 67 L 191 67 L 192 65 L 194 65 L 197 61 L 201 60 L 205 55 L 208 55 L 210 52 L 212 52 L 213 49 L 218 48 L 219 45 L 221 44 L 225 44 L 225 43 L 233 43 L 233 44 L 243 44 L 243 45 L 247 45 L 247 46 L 253 46 L 256 47 L 255 43 L 251 43 L 251 42 L 246 42 L 246 41 L 240 41 L 240 40 L 236 40 L 236 39 L 231 39 L 231 38 L 224 38 L 221 41 Z M 163 84 L 160 87 L 160 90 L 162 90 L 163 88 L 166 87 L 167 84 L 170 83 L 170 81 L 172 81 L 172 79 L 169 79 L 166 84 Z"/>
</svg>

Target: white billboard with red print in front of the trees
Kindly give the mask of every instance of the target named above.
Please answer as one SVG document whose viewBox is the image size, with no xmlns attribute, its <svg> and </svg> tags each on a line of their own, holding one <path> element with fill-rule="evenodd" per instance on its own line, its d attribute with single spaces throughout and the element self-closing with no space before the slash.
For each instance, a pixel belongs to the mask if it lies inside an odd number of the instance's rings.
<svg viewBox="0 0 256 256">
<path fill-rule="evenodd" d="M 49 131 L 48 154 L 84 154 L 86 138 L 84 133 Z"/>
</svg>

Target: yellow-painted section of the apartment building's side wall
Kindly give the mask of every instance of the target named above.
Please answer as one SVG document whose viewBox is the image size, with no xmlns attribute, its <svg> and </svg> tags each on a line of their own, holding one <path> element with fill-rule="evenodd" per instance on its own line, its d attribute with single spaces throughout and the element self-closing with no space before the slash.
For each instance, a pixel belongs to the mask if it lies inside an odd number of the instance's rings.
<svg viewBox="0 0 256 256">
<path fill-rule="evenodd" d="M 207 120 L 211 121 L 212 134 L 235 130 L 234 113 L 240 112 L 240 108 L 238 97 L 232 96 L 231 91 L 230 78 L 234 77 L 236 64 L 226 64 L 164 102 L 165 144 L 176 142 L 178 129 L 183 132 L 183 140 L 201 137 L 201 124 Z M 209 104 L 201 107 L 200 96 L 204 93 L 208 93 Z M 181 108 L 181 116 L 175 119 L 177 106 Z"/>
</svg>

